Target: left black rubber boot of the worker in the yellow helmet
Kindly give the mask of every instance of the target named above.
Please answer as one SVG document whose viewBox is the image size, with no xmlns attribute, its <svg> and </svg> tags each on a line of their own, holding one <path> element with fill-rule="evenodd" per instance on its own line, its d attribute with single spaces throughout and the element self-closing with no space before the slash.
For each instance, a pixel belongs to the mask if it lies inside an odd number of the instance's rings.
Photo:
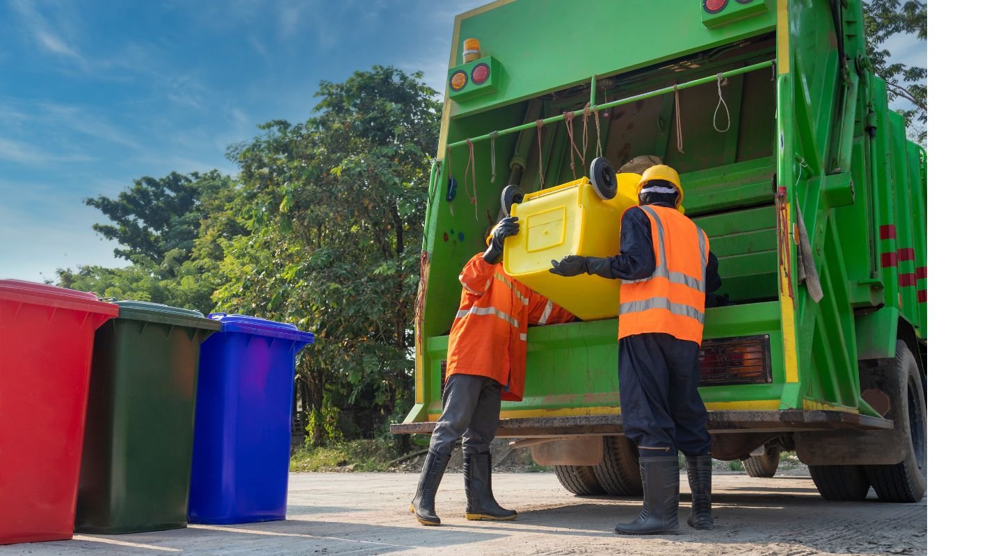
<svg viewBox="0 0 989 556">
<path fill-rule="evenodd" d="M 618 523 L 618 534 L 676 534 L 679 532 L 679 462 L 675 455 L 639 458 L 642 472 L 642 512 L 631 523 Z"/>
</svg>

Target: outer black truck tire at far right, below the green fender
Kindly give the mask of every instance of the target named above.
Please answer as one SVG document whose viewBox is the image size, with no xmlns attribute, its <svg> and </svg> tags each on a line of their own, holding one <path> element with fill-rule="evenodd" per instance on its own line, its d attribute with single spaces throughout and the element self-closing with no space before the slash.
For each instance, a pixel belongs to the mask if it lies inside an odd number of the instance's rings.
<svg viewBox="0 0 989 556">
<path fill-rule="evenodd" d="M 896 365 L 890 368 L 886 390 L 891 397 L 888 417 L 896 427 L 909 427 L 903 461 L 893 465 L 864 465 L 882 502 L 920 502 L 927 493 L 927 399 L 917 359 L 902 340 L 896 343 Z"/>
</svg>

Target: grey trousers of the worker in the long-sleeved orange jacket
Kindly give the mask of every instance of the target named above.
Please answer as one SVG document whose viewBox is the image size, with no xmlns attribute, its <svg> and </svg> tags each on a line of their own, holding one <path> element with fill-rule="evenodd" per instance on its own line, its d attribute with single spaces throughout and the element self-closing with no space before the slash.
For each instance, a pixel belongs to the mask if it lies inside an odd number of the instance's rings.
<svg viewBox="0 0 989 556">
<path fill-rule="evenodd" d="M 443 389 L 443 414 L 429 440 L 429 449 L 447 454 L 464 438 L 464 453 L 491 451 L 501 412 L 501 385 L 493 378 L 451 374 Z"/>
</svg>

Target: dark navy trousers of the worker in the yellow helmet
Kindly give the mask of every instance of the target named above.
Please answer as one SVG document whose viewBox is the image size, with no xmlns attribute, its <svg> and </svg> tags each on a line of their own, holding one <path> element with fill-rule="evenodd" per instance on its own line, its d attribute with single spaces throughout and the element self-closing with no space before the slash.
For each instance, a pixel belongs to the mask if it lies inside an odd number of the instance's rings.
<svg viewBox="0 0 989 556">
<path fill-rule="evenodd" d="M 618 341 L 618 391 L 625 436 L 639 454 L 711 452 L 707 410 L 697 392 L 699 347 L 669 334 L 637 334 Z"/>
</svg>

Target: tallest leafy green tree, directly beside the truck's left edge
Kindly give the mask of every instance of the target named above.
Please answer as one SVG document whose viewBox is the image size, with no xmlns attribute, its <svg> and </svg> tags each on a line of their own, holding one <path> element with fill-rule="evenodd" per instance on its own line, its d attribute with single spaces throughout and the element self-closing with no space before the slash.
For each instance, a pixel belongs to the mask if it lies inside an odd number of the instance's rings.
<svg viewBox="0 0 989 556">
<path fill-rule="evenodd" d="M 221 308 L 297 323 L 312 439 L 367 436 L 407 409 L 427 170 L 440 119 L 421 74 L 322 83 L 314 116 L 231 149 L 241 221 L 224 243 Z M 327 428 L 328 426 L 328 428 Z"/>
</svg>

